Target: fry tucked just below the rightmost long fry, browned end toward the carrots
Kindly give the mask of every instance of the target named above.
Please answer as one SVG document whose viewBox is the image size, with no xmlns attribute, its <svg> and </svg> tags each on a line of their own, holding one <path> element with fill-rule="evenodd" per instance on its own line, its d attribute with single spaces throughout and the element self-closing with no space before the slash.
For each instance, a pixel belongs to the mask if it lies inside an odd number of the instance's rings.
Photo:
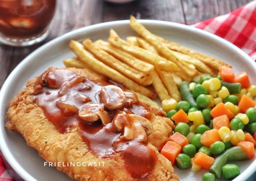
<svg viewBox="0 0 256 181">
<path fill-rule="evenodd" d="M 211 69 L 209 66 L 207 66 L 206 64 L 204 64 L 200 60 L 198 60 L 198 59 L 196 59 L 194 57 L 191 57 L 189 55 L 177 52 L 177 51 L 172 51 L 172 53 L 174 55 L 176 55 L 177 57 L 179 57 L 184 62 L 187 62 L 187 63 L 190 63 L 190 64 L 194 65 L 195 68 L 198 71 L 206 73 L 206 74 L 210 74 L 212 76 L 215 76 L 215 72 L 213 71 L 213 69 Z"/>
</svg>

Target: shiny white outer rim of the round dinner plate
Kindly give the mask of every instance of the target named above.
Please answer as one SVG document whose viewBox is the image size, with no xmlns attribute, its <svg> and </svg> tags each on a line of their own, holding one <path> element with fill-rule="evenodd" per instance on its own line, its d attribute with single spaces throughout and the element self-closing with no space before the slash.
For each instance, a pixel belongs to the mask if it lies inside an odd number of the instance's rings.
<svg viewBox="0 0 256 181">
<path fill-rule="evenodd" d="M 156 24 L 156 25 L 159 25 L 159 26 L 165 25 L 165 26 L 174 27 L 174 28 L 178 28 L 178 29 L 188 30 L 188 31 L 190 31 L 192 33 L 196 33 L 200 36 L 205 36 L 208 39 L 215 39 L 215 41 L 218 41 L 221 44 L 225 44 L 227 47 L 229 47 L 229 48 L 235 50 L 237 53 L 239 53 L 244 59 L 246 59 L 246 61 L 248 61 L 248 63 L 251 64 L 251 66 L 256 66 L 255 62 L 253 61 L 253 59 L 251 59 L 250 56 L 248 56 L 248 54 L 246 54 L 240 48 L 236 47 L 236 45 L 232 44 L 231 42 L 229 42 L 225 39 L 222 39 L 221 37 L 219 37 L 217 35 L 214 35 L 212 33 L 206 32 L 206 31 L 201 30 L 201 29 L 197 29 L 197 28 L 192 27 L 192 26 L 187 26 L 187 25 L 184 25 L 184 24 L 179 24 L 179 23 L 174 23 L 174 22 L 169 22 L 169 21 L 160 21 L 160 20 L 138 20 L 138 21 L 142 24 L 144 24 L 144 23 L 145 24 Z M 46 44 L 42 45 L 41 47 L 38 47 L 36 50 L 34 50 L 32 53 L 30 53 L 26 58 L 24 58 L 12 70 L 12 72 L 6 78 L 2 88 L 0 90 L 0 105 L 3 105 L 3 97 L 4 97 L 4 94 L 6 92 L 6 89 L 9 87 L 9 82 L 11 81 L 11 79 L 16 74 L 18 74 L 18 72 L 21 69 L 23 69 L 24 66 L 26 66 L 26 63 L 29 63 L 34 56 L 36 56 L 38 53 L 40 53 L 45 48 L 47 48 L 47 46 L 52 45 L 52 44 L 56 44 L 58 42 L 61 42 L 62 40 L 68 38 L 71 35 L 76 36 L 79 33 L 90 32 L 93 29 L 100 29 L 102 27 L 108 27 L 108 26 L 111 27 L 111 25 L 123 25 L 123 24 L 130 24 L 130 21 L 129 20 L 118 20 L 118 21 L 109 21 L 109 22 L 105 22 L 105 23 L 93 24 L 93 25 L 90 25 L 90 26 L 82 27 L 82 28 L 64 33 L 63 35 L 60 35 L 60 36 L 52 39 L 51 41 L 47 42 Z M 6 113 L 3 113 L 0 109 L 0 121 L 1 122 L 4 121 L 5 115 L 6 115 Z M 8 161 L 8 163 L 10 164 L 12 169 L 14 169 L 15 172 L 17 172 L 18 175 L 20 175 L 20 177 L 23 178 L 24 180 L 31 180 L 31 181 L 36 180 L 32 175 L 30 175 L 18 163 L 18 161 L 15 160 L 15 158 L 11 154 L 11 151 L 9 150 L 8 146 L 6 145 L 5 140 L 3 139 L 3 136 L 2 136 L 3 131 L 5 131 L 5 127 L 2 126 L 2 124 L 0 124 L 0 149 L 2 151 L 3 156 L 5 157 L 5 160 Z M 234 181 L 247 179 L 250 175 L 253 174 L 254 170 L 256 170 L 256 158 L 254 158 L 254 161 L 252 162 L 250 167 L 245 169 L 245 171 L 242 174 L 240 174 L 238 177 L 236 177 L 234 179 Z"/>
</svg>

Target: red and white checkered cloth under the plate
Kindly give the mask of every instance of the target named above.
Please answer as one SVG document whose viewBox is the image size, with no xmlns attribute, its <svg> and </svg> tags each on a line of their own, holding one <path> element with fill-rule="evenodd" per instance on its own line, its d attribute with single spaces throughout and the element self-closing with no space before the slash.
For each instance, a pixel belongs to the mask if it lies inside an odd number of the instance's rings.
<svg viewBox="0 0 256 181">
<path fill-rule="evenodd" d="M 256 0 L 235 11 L 194 25 L 232 42 L 256 60 Z M 12 181 L 0 155 L 0 181 Z"/>
</svg>

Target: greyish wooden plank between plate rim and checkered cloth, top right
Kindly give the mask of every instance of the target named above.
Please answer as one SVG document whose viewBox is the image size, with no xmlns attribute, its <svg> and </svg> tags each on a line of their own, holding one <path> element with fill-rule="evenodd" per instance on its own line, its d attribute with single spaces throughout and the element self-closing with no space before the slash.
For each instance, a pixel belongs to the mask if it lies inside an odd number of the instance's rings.
<svg viewBox="0 0 256 181">
<path fill-rule="evenodd" d="M 181 0 L 186 24 L 227 14 L 252 0 Z"/>
</svg>

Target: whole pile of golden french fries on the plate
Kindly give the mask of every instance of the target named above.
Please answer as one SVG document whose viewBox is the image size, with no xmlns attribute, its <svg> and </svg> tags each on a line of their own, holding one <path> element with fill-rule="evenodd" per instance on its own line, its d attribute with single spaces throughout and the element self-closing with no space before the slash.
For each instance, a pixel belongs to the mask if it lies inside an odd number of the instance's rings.
<svg viewBox="0 0 256 181">
<path fill-rule="evenodd" d="M 219 67 L 230 66 L 152 34 L 134 17 L 130 25 L 139 37 L 128 36 L 125 41 L 111 29 L 108 42 L 70 41 L 76 58 L 64 60 L 64 65 L 89 68 L 151 99 L 156 95 L 145 86 L 152 84 L 161 101 L 180 101 L 181 81 L 191 81 L 201 74 L 214 76 Z"/>
</svg>

